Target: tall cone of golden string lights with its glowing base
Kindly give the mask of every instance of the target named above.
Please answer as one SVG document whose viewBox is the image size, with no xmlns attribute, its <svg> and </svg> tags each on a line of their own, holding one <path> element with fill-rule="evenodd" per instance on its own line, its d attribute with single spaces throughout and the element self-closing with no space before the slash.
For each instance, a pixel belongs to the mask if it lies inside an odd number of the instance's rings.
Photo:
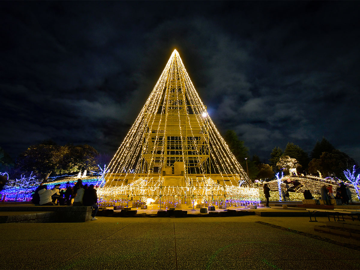
<svg viewBox="0 0 360 270">
<path fill-rule="evenodd" d="M 99 195 L 109 205 L 154 201 L 234 205 L 259 194 L 207 113 L 174 50 L 108 166 Z"/>
</svg>

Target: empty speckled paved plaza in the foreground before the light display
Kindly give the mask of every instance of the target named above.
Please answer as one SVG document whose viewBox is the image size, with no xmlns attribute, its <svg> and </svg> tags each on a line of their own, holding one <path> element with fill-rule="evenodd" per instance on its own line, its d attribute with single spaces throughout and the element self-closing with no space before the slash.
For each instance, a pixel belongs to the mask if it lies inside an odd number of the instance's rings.
<svg viewBox="0 0 360 270">
<path fill-rule="evenodd" d="M 1 269 L 360 269 L 360 241 L 308 217 L 99 217 L 0 224 Z M 358 221 L 354 221 L 358 222 Z"/>
</svg>

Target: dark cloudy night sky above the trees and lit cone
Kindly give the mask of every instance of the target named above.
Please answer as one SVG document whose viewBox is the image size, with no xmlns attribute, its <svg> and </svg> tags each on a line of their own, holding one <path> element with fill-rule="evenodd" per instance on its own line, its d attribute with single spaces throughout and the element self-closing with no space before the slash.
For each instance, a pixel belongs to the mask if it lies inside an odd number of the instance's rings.
<svg viewBox="0 0 360 270">
<path fill-rule="evenodd" d="M 0 146 L 113 156 L 176 48 L 222 135 L 360 161 L 360 1 L 0 1 Z"/>
</svg>

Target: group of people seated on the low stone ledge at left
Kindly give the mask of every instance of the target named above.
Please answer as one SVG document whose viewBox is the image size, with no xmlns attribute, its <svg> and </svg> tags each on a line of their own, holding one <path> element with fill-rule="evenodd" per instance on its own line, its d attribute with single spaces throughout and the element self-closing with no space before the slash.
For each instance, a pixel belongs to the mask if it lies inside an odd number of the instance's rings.
<svg viewBox="0 0 360 270">
<path fill-rule="evenodd" d="M 71 203 L 72 199 L 74 199 L 73 203 Z M 99 209 L 97 205 L 98 194 L 96 189 L 94 189 L 94 185 L 83 185 L 81 179 L 77 180 L 73 188 L 67 182 L 65 191 L 60 191 L 60 184 L 55 185 L 53 189 L 48 189 L 47 185 L 41 183 L 33 194 L 32 202 L 40 206 L 91 206 L 94 209 L 91 220 L 97 220 L 95 216 Z"/>
</svg>

